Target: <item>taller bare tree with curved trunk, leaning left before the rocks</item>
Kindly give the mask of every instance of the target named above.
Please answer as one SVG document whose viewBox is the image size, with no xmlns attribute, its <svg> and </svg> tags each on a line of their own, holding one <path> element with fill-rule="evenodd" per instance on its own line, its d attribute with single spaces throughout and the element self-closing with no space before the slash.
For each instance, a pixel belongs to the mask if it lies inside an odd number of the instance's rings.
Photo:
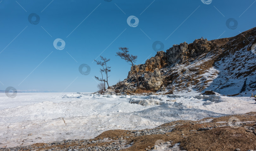
<svg viewBox="0 0 256 151">
<path fill-rule="evenodd" d="M 136 68 L 135 68 L 135 62 L 137 61 L 137 55 L 131 55 L 131 54 L 128 54 L 128 48 L 126 48 L 126 47 L 119 47 L 119 50 L 121 50 L 121 51 L 119 51 L 119 52 L 117 52 L 116 54 L 116 56 L 119 56 L 119 57 L 121 57 L 121 59 L 124 59 L 126 62 L 130 62 L 129 64 L 133 67 L 133 70 L 134 70 L 134 72 L 135 72 L 135 74 L 136 74 L 136 78 L 137 78 L 137 87 L 139 86 L 139 79 L 138 79 L 138 73 L 137 73 L 137 70 L 136 70 Z"/>
</svg>

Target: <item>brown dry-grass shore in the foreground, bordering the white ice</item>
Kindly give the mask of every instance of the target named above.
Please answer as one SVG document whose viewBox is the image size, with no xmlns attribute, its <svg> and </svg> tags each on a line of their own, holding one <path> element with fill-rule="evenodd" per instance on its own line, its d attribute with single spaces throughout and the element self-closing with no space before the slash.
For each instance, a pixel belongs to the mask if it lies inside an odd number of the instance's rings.
<svg viewBox="0 0 256 151">
<path fill-rule="evenodd" d="M 241 127 L 231 127 L 226 126 L 231 117 L 239 119 L 241 122 L 246 122 Z M 210 122 L 204 122 L 207 119 L 213 119 Z M 221 123 L 216 123 L 221 122 Z M 112 138 L 113 140 L 109 142 L 101 142 L 97 144 L 87 144 L 82 147 L 89 146 L 107 146 L 109 143 L 118 140 L 118 138 L 123 137 L 126 144 L 133 142 L 132 146 L 129 148 L 122 149 L 121 151 L 145 151 L 145 148 L 150 149 L 155 145 L 158 140 L 163 141 L 173 141 L 172 145 L 175 143 L 180 143 L 180 147 L 187 151 L 233 151 L 236 148 L 240 148 L 241 151 L 247 151 L 249 149 L 256 150 L 256 132 L 248 132 L 245 126 L 251 126 L 256 128 L 256 112 L 250 112 L 240 115 L 223 116 L 219 118 L 205 118 L 199 121 L 186 121 L 179 120 L 173 121 L 161 125 L 174 126 L 174 130 L 167 132 L 164 135 L 145 135 L 145 136 L 134 136 L 131 131 L 128 130 L 110 130 L 101 133 L 92 140 Z M 212 127 L 209 131 L 197 131 L 199 128 Z M 195 131 L 190 131 L 195 130 Z M 255 130 L 254 130 L 255 131 Z M 128 134 L 127 134 L 128 133 Z M 128 136 L 129 138 L 126 138 Z M 35 146 L 43 146 L 45 143 L 37 143 Z M 52 147 L 68 148 L 69 146 L 77 146 L 79 142 L 72 144 L 63 144 L 57 146 L 48 146 L 41 149 L 49 149 Z M 81 145 L 81 144 L 80 144 Z M 39 151 L 41 150 L 39 148 Z"/>
</svg>

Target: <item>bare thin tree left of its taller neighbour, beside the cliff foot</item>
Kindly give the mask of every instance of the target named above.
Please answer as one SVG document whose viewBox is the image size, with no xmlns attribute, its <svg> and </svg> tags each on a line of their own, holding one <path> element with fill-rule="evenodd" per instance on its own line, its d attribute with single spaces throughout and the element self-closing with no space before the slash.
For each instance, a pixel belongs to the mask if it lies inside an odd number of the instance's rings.
<svg viewBox="0 0 256 151">
<path fill-rule="evenodd" d="M 108 85 L 108 78 L 109 78 L 109 76 L 107 75 L 107 73 L 111 71 L 110 70 L 111 67 L 107 66 L 107 62 L 110 61 L 110 59 L 104 58 L 102 56 L 100 56 L 100 57 L 101 57 L 102 61 L 96 61 L 96 60 L 94 60 L 94 61 L 97 63 L 97 65 L 100 65 L 102 67 L 102 68 L 100 68 L 101 78 L 96 77 L 96 76 L 95 76 L 95 78 L 97 80 L 99 80 L 99 81 L 104 82 L 104 90 L 106 90 L 105 82 L 107 83 L 107 88 L 109 88 L 109 85 Z M 106 74 L 106 78 L 103 78 L 103 74 L 102 73 Z"/>
</svg>

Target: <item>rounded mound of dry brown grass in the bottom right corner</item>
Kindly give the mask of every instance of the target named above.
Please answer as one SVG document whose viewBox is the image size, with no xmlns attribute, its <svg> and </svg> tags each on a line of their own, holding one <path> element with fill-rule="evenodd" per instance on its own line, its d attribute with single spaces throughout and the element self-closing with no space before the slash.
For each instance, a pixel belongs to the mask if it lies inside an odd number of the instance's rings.
<svg viewBox="0 0 256 151">
<path fill-rule="evenodd" d="M 256 136 L 242 127 L 219 127 L 188 136 L 180 146 L 187 151 L 233 151 L 236 148 L 247 151 L 256 149 Z"/>
</svg>

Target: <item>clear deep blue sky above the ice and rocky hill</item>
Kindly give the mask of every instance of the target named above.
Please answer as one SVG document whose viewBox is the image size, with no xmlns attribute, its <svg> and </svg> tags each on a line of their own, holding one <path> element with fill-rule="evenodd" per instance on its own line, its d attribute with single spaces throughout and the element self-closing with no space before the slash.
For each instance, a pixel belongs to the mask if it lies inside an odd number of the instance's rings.
<svg viewBox="0 0 256 151">
<path fill-rule="evenodd" d="M 155 41 L 162 42 L 165 51 L 202 36 L 208 40 L 232 37 L 256 25 L 255 0 L 203 2 L 0 0 L 0 90 L 13 86 L 17 90 L 93 92 L 97 90 L 93 77 L 100 76 L 93 60 L 101 53 L 111 59 L 109 84 L 113 85 L 130 71 L 130 65 L 115 56 L 119 47 L 128 47 L 141 64 L 155 56 Z M 136 27 L 127 24 L 131 15 L 139 20 L 138 25 L 131 20 Z M 229 18 L 238 23 L 230 22 L 234 29 L 226 25 Z M 64 49 L 53 46 L 57 38 L 65 42 Z M 81 64 L 90 67 L 88 75 L 79 72 Z"/>
</svg>

